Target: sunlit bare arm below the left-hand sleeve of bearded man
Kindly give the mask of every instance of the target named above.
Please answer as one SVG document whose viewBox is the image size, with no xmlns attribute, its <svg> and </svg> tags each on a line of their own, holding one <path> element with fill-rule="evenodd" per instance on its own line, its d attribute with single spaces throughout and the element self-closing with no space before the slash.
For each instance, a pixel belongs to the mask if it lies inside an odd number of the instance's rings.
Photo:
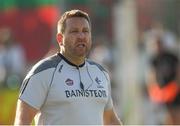
<svg viewBox="0 0 180 126">
<path fill-rule="evenodd" d="M 30 125 L 37 112 L 37 109 L 22 100 L 18 100 L 14 125 Z"/>
</svg>

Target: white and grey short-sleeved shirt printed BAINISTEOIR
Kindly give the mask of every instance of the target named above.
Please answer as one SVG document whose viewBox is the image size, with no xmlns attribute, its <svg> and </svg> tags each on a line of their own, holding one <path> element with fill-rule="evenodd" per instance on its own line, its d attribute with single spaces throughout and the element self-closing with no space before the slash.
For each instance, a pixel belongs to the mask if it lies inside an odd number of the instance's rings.
<svg viewBox="0 0 180 126">
<path fill-rule="evenodd" d="M 107 72 L 87 59 L 76 66 L 60 53 L 32 68 L 19 99 L 39 110 L 38 125 L 102 125 L 113 106 Z"/>
</svg>

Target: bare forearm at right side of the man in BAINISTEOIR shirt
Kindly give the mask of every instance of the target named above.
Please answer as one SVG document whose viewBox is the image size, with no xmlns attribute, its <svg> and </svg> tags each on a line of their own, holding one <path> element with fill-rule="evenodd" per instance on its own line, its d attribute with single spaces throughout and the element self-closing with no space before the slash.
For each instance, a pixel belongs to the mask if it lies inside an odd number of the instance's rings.
<svg viewBox="0 0 180 126">
<path fill-rule="evenodd" d="M 104 111 L 104 125 L 122 125 L 114 109 Z"/>
</svg>

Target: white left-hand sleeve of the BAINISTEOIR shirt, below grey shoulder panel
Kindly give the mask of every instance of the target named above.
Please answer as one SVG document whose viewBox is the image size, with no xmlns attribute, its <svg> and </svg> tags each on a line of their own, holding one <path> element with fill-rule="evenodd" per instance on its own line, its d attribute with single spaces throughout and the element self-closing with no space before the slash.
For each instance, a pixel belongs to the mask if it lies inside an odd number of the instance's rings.
<svg viewBox="0 0 180 126">
<path fill-rule="evenodd" d="M 25 78 L 19 99 L 39 110 L 45 103 L 52 79 L 53 69 L 47 69 Z"/>
</svg>

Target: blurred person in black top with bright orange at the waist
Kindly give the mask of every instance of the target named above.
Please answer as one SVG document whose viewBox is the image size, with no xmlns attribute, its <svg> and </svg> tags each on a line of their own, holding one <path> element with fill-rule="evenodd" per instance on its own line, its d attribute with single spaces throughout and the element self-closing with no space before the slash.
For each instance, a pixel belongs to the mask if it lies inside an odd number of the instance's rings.
<svg viewBox="0 0 180 126">
<path fill-rule="evenodd" d="M 168 125 L 180 124 L 180 65 L 175 50 L 161 37 L 155 41 L 156 53 L 150 59 L 148 91 L 152 102 L 164 105 L 169 113 Z"/>
</svg>

